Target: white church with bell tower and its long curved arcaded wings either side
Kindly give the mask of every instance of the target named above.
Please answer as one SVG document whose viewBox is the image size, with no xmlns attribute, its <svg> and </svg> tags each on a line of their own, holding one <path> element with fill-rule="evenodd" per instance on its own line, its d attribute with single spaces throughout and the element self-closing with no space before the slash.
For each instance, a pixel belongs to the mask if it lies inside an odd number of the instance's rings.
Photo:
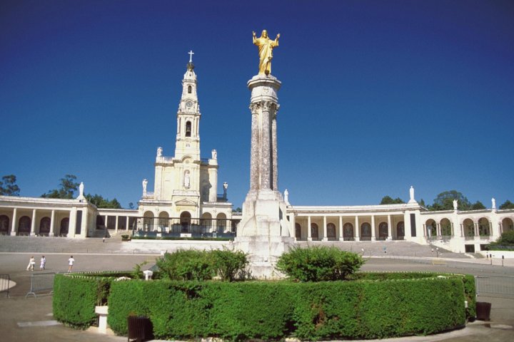
<svg viewBox="0 0 514 342">
<path fill-rule="evenodd" d="M 138 209 L 99 209 L 87 202 L 84 185 L 76 199 L 0 196 L 0 234 L 27 237 L 103 237 L 106 232 L 148 237 L 225 237 L 237 235 L 241 213 L 232 211 L 226 182 L 218 184 L 217 151 L 201 157 L 200 105 L 193 63 L 182 80 L 176 114 L 173 156 L 156 152 L 153 191 L 142 182 Z M 223 151 L 230 152 L 230 151 Z M 287 182 L 283 180 L 282 183 Z M 241 185 L 243 186 L 243 185 Z M 220 187 L 223 191 L 218 194 Z M 405 204 L 296 206 L 285 217 L 295 241 L 432 244 L 452 252 L 475 252 L 514 229 L 514 209 L 430 212 L 415 200 L 410 187 Z M 123 233 L 122 233 L 123 234 Z"/>
</svg>

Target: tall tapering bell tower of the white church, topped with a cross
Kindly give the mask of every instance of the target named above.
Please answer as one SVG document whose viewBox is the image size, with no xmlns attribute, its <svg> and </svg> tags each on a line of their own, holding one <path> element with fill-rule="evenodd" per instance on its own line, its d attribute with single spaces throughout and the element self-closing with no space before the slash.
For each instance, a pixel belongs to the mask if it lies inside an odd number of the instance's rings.
<svg viewBox="0 0 514 342">
<path fill-rule="evenodd" d="M 182 80 L 182 96 L 177 112 L 177 135 L 175 158 L 188 155 L 200 160 L 200 105 L 196 94 L 196 73 L 194 72 L 193 52 L 189 52 L 187 71 Z"/>
</svg>

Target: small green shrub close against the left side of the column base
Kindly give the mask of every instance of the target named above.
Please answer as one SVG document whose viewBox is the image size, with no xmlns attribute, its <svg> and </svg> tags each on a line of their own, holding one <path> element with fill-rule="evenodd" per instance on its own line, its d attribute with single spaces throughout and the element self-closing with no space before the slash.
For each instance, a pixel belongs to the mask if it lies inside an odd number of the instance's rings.
<svg viewBox="0 0 514 342">
<path fill-rule="evenodd" d="M 244 252 L 213 249 L 210 254 L 213 257 L 213 267 L 221 280 L 234 281 L 237 277 L 244 276 L 244 270 L 248 266 L 248 258 Z"/>
</svg>

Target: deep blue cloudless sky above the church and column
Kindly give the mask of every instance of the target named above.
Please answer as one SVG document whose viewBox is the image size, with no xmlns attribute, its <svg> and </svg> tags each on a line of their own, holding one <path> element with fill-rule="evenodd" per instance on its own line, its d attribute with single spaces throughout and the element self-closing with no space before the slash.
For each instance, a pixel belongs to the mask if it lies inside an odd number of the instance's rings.
<svg viewBox="0 0 514 342">
<path fill-rule="evenodd" d="M 201 154 L 249 188 L 251 32 L 274 51 L 279 187 L 296 205 L 514 201 L 513 1 L 0 2 L 0 175 L 39 197 L 73 174 L 124 207 L 174 154 L 189 50 Z"/>
</svg>

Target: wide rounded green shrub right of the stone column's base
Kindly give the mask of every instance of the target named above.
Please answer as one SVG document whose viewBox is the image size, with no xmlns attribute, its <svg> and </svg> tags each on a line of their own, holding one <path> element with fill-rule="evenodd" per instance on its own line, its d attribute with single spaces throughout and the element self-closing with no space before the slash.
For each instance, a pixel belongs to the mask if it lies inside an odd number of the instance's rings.
<svg viewBox="0 0 514 342">
<path fill-rule="evenodd" d="M 293 247 L 278 258 L 276 268 L 297 281 L 343 280 L 364 264 L 359 254 L 336 247 Z"/>
</svg>

